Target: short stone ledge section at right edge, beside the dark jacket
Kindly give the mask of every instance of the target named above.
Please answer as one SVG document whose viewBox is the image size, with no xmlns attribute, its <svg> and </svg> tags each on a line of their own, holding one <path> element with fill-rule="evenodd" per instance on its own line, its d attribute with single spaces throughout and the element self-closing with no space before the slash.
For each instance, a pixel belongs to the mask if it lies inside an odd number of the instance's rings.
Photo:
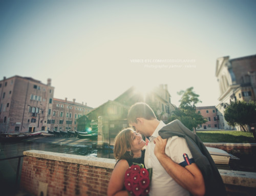
<svg viewBox="0 0 256 196">
<path fill-rule="evenodd" d="M 245 171 L 233 171 L 219 169 L 222 180 L 225 184 L 256 187 L 256 173 Z"/>
</svg>

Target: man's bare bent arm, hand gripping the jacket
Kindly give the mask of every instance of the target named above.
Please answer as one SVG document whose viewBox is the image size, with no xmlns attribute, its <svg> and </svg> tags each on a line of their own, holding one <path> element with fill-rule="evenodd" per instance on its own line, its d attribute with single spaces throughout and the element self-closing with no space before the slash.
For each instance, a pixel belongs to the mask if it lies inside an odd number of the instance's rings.
<svg viewBox="0 0 256 196">
<path fill-rule="evenodd" d="M 182 167 L 175 163 L 165 154 L 165 145 L 167 139 L 158 136 L 154 143 L 156 144 L 154 153 L 167 173 L 183 188 L 193 195 L 204 195 L 205 185 L 201 171 L 195 163 Z"/>
</svg>

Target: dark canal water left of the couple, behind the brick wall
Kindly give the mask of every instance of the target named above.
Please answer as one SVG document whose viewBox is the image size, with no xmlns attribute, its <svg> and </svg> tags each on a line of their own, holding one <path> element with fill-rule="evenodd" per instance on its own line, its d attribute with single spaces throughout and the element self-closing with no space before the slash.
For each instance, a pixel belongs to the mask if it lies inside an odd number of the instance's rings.
<svg viewBox="0 0 256 196">
<path fill-rule="evenodd" d="M 92 148 L 92 142 L 84 143 L 80 146 L 72 145 L 59 145 L 52 143 L 42 143 L 42 142 L 11 142 L 11 143 L 0 143 L 0 159 L 22 156 L 23 152 L 26 150 L 43 150 L 51 151 L 54 153 L 65 153 L 72 155 L 81 156 L 92 156 L 100 158 L 114 159 L 113 150 L 111 149 L 95 149 Z M 97 143 L 97 141 L 95 141 Z M 20 181 L 20 174 L 22 171 L 21 159 L 18 178 L 18 184 Z M 15 180 L 17 172 L 18 159 L 9 159 L 0 161 L 0 195 L 13 195 L 16 191 Z"/>
</svg>

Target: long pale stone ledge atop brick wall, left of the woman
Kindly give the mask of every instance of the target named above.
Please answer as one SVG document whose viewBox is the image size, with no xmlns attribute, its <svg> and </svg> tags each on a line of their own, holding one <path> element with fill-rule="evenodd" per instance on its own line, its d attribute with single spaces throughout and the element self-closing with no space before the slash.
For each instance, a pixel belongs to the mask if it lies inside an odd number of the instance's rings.
<svg viewBox="0 0 256 196">
<path fill-rule="evenodd" d="M 104 167 L 104 168 L 110 168 L 110 169 L 113 169 L 116 164 L 116 160 L 114 159 L 88 157 L 88 156 L 81 156 L 81 155 L 69 155 L 69 154 L 62 154 L 62 153 L 52 153 L 52 152 L 41 151 L 41 150 L 28 150 L 28 151 L 24 151 L 23 154 L 26 156 L 36 157 L 41 159 L 49 159 L 49 160 L 63 161 L 68 163 L 91 165 L 91 166 Z"/>
</svg>

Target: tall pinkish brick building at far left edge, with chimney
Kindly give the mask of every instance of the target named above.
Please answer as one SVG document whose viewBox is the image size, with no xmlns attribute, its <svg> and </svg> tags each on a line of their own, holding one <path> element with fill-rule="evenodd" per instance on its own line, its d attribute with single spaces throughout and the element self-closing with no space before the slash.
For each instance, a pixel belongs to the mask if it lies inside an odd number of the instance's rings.
<svg viewBox="0 0 256 196">
<path fill-rule="evenodd" d="M 0 81 L 0 132 L 35 132 L 47 127 L 46 111 L 52 108 L 54 87 L 30 77 Z"/>
</svg>

